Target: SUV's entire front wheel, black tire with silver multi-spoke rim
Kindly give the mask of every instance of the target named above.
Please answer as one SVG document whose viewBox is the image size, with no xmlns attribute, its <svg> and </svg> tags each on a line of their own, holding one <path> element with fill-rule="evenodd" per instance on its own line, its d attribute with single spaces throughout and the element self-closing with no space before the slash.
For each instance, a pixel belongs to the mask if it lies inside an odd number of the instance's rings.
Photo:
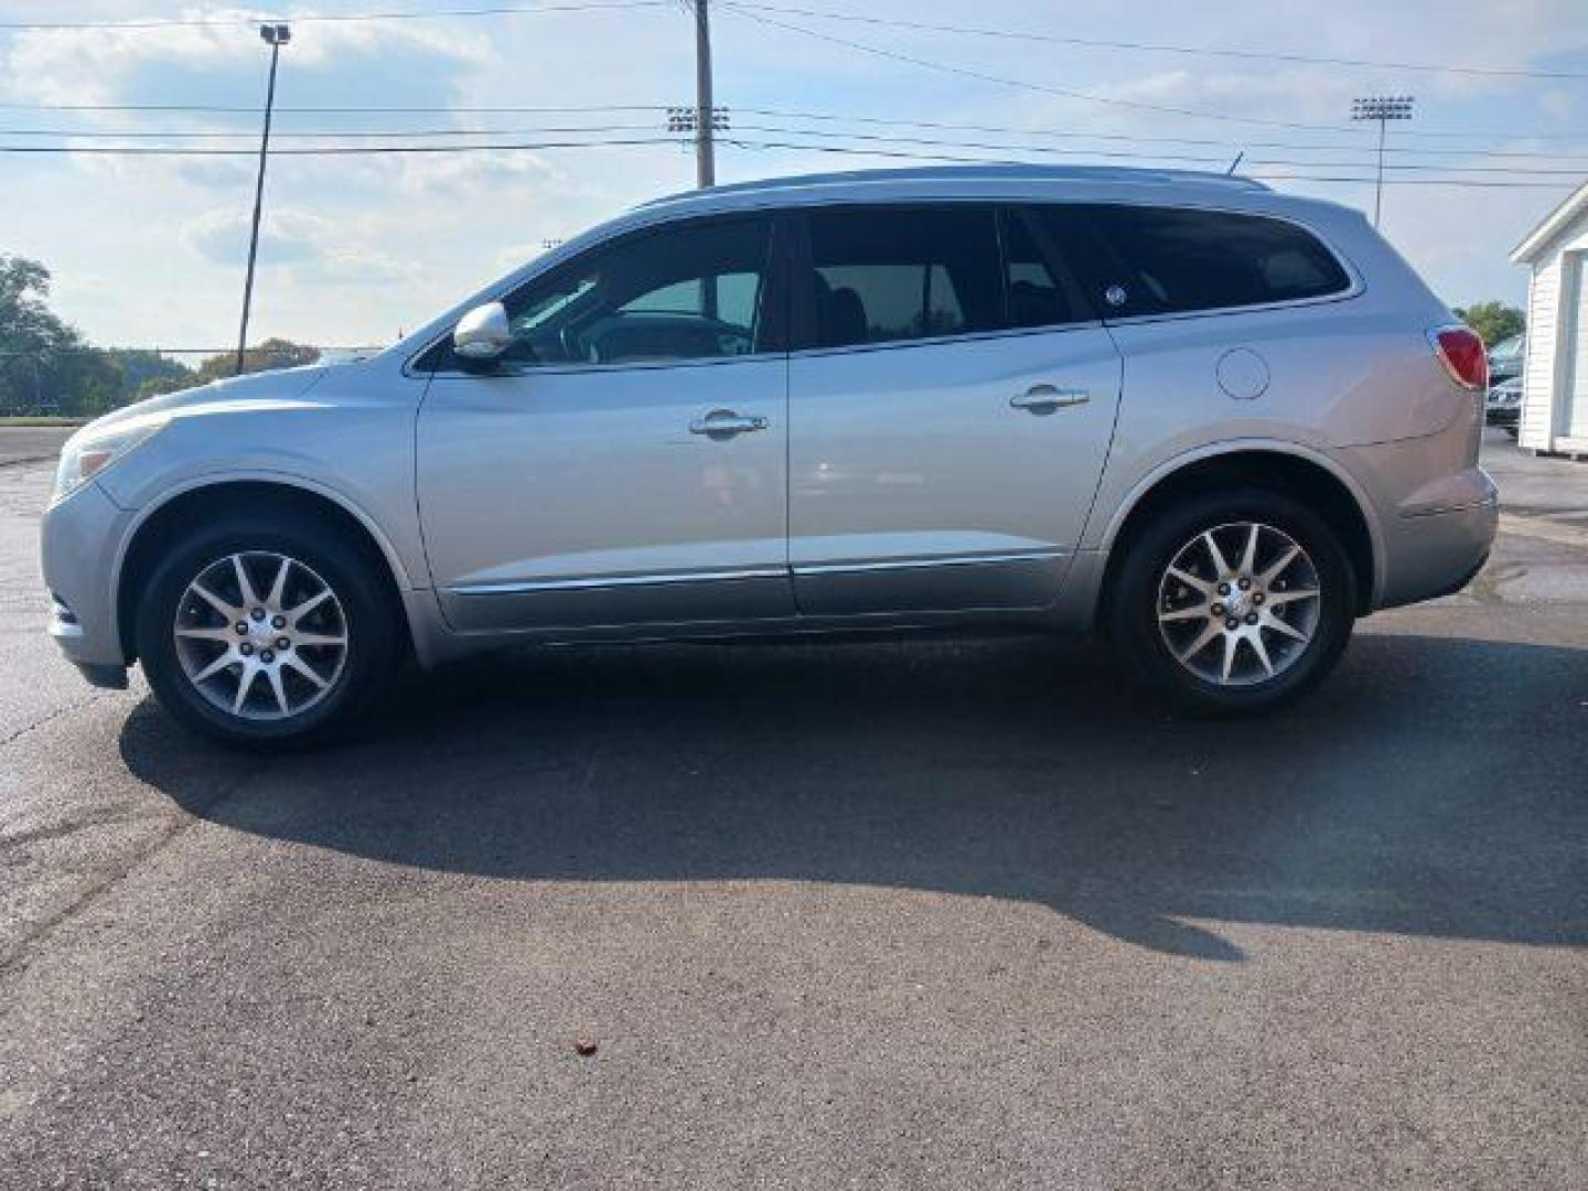
<svg viewBox="0 0 1588 1191">
<path fill-rule="evenodd" d="M 175 545 L 138 605 L 160 703 L 227 743 L 306 742 L 391 676 L 395 608 L 357 543 L 302 515 L 233 518 Z"/>
</svg>

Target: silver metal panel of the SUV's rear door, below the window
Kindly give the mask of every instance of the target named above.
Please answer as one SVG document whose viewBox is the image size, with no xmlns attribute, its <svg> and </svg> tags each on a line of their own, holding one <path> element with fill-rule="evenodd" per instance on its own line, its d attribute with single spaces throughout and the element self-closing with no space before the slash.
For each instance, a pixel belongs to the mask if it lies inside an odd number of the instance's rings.
<svg viewBox="0 0 1588 1191">
<path fill-rule="evenodd" d="M 1069 403 L 1015 405 L 1040 386 Z M 1100 324 L 796 353 L 789 392 L 800 611 L 1058 597 L 1120 402 Z"/>
</svg>

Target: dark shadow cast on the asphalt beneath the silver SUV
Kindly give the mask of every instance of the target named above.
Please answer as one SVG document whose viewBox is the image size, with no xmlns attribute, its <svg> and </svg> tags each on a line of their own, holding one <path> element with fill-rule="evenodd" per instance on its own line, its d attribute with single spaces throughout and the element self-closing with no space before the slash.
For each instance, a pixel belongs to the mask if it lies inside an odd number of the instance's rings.
<svg viewBox="0 0 1588 1191">
<path fill-rule="evenodd" d="M 1051 907 L 1169 954 L 1220 923 L 1588 945 L 1588 651 L 1363 635 L 1256 721 L 1177 719 L 1070 640 L 510 653 L 357 738 L 240 756 L 152 702 L 129 767 L 219 824 L 518 881 L 799 880 Z"/>
</svg>

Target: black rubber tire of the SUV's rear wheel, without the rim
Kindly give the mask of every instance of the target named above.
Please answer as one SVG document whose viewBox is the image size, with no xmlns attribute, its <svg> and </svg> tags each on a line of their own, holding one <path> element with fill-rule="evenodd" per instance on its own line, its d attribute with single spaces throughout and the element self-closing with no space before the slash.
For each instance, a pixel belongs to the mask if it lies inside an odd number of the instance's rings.
<svg viewBox="0 0 1588 1191">
<path fill-rule="evenodd" d="M 1243 686 L 1193 673 L 1170 651 L 1158 616 L 1159 583 L 1181 548 L 1204 530 L 1232 522 L 1259 522 L 1289 535 L 1315 567 L 1318 589 L 1316 624 L 1305 646 L 1272 678 Z M 1132 535 L 1108 588 L 1104 619 L 1135 681 L 1175 708 L 1204 716 L 1255 715 L 1297 699 L 1340 661 L 1356 619 L 1356 575 L 1339 535 L 1305 505 L 1261 488 L 1208 492 L 1161 510 Z"/>
</svg>

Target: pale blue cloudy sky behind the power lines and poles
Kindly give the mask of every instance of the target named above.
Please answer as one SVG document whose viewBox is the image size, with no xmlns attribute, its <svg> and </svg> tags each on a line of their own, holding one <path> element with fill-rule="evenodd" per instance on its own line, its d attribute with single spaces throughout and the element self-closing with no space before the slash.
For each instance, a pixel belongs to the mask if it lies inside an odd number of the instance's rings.
<svg viewBox="0 0 1588 1191">
<path fill-rule="evenodd" d="M 540 11 L 391 16 L 500 6 Z M 360 13 L 387 16 L 306 19 Z M 1243 173 L 1370 211 L 1377 132 L 1350 121 L 1351 98 L 1409 94 L 1383 232 L 1466 305 L 1521 302 L 1510 249 L 1588 179 L 1583 0 L 713 0 L 711 13 L 732 124 L 723 183 L 908 154 L 1223 170 L 1243 152 Z M 0 146 L 70 149 L 0 152 L 0 254 L 48 265 L 54 308 L 92 341 L 235 341 L 268 65 L 259 17 L 294 21 L 273 149 L 661 143 L 273 152 L 251 341 L 389 343 L 546 240 L 694 184 L 692 149 L 661 110 L 694 102 L 683 0 L 0 0 L 0 25 L 214 22 L 0 27 Z"/>
</svg>

